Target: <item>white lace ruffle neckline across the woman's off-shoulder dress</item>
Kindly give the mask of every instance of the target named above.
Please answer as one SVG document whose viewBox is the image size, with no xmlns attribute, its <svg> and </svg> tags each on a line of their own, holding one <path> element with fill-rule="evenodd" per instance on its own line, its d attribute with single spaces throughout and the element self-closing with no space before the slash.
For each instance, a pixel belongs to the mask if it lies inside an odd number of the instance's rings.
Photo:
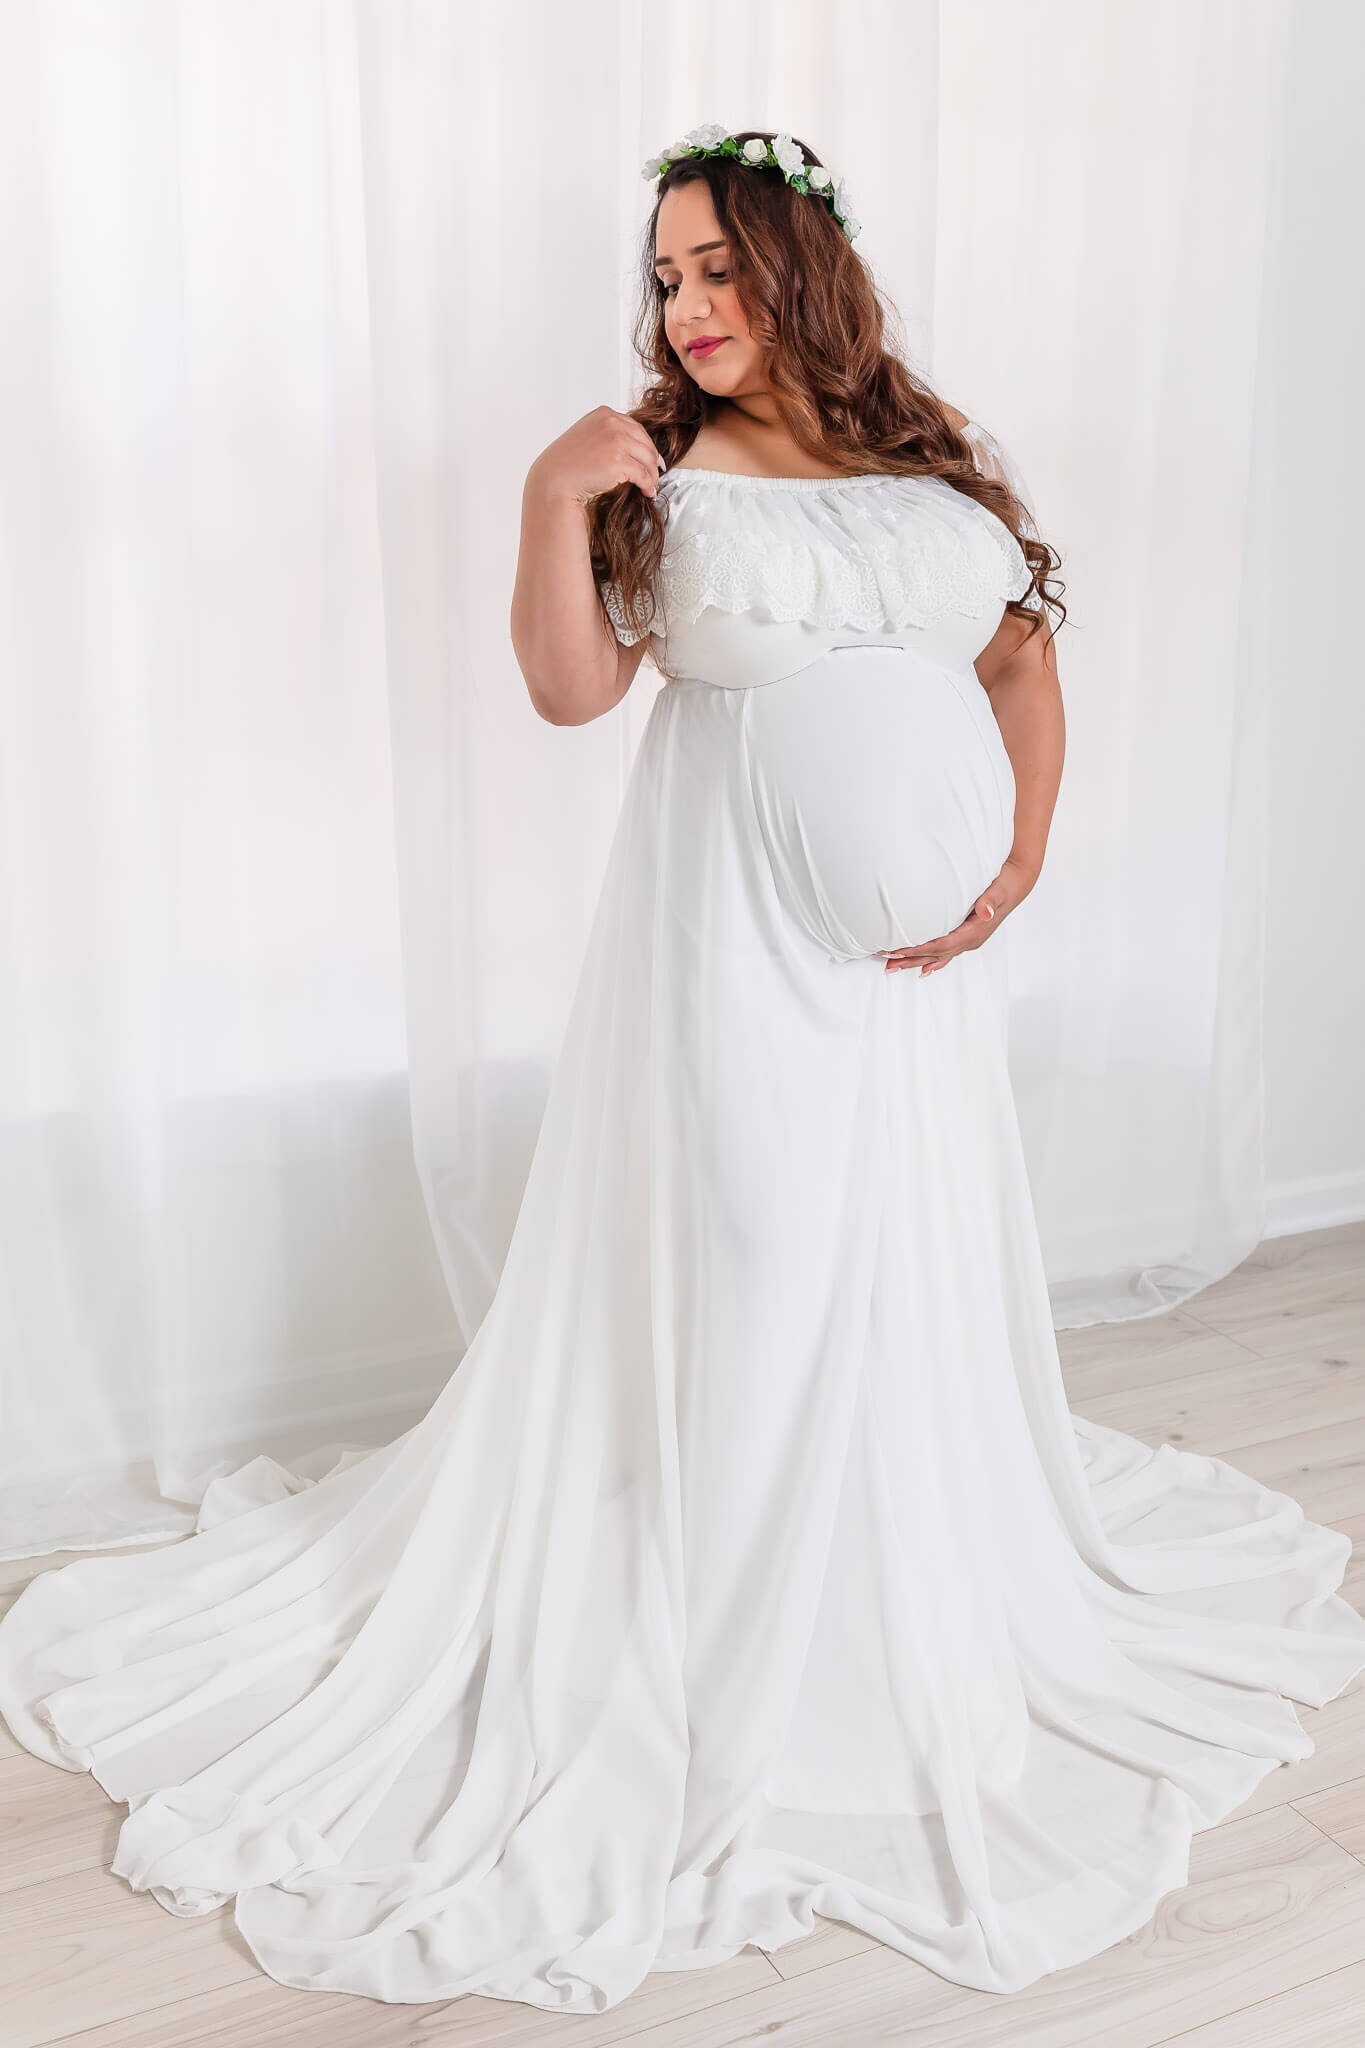
<svg viewBox="0 0 1365 2048">
<path fill-rule="evenodd" d="M 1009 526 L 941 477 L 665 469 L 659 502 L 667 535 L 651 631 L 661 637 L 710 608 L 819 629 L 929 627 L 948 612 L 986 616 L 1031 584 Z M 608 588 L 604 600 L 618 639 L 641 639 L 620 594 Z"/>
</svg>

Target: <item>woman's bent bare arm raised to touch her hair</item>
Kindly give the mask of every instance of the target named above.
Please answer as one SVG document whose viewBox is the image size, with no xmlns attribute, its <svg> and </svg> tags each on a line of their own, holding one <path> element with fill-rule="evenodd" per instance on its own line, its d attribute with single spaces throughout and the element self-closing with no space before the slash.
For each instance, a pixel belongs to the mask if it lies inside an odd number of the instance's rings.
<svg viewBox="0 0 1365 2048">
<path fill-rule="evenodd" d="M 616 483 L 653 498 L 659 455 L 645 428 L 598 406 L 530 465 L 512 590 L 512 647 L 530 700 L 551 725 L 585 725 L 622 700 L 647 641 L 622 647 L 602 616 L 587 545 L 587 500 Z"/>
</svg>

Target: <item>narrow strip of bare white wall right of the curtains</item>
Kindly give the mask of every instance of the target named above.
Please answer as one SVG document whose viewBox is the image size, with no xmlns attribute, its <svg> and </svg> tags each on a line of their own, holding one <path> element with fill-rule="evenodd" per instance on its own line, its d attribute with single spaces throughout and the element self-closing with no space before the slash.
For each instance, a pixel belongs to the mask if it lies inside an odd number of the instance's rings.
<svg viewBox="0 0 1365 2048">
<path fill-rule="evenodd" d="M 1365 8 L 1297 0 L 1273 346 L 1271 1231 L 1365 1214 Z"/>
</svg>

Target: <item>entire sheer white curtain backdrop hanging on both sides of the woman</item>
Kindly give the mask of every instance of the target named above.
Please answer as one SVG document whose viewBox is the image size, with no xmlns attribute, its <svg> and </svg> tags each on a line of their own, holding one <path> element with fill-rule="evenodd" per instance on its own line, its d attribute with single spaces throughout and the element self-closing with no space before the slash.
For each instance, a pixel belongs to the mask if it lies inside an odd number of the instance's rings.
<svg viewBox="0 0 1365 2048">
<path fill-rule="evenodd" d="M 520 487 L 630 395 L 639 164 L 700 119 L 847 172 L 1068 557 L 1068 782 L 1001 934 L 1058 1317 L 1254 1241 L 1271 12 L 10 14 L 0 1552 L 315 1477 L 487 1305 L 651 700 L 530 711 Z"/>
</svg>

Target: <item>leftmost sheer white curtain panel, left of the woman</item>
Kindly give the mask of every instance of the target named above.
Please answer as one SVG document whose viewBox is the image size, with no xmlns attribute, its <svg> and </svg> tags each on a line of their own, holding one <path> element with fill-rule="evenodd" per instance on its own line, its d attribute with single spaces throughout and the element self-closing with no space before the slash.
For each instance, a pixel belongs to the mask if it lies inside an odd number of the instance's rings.
<svg viewBox="0 0 1365 2048">
<path fill-rule="evenodd" d="M 6 12 L 8 1552 L 184 1528 L 211 1473 L 383 1440 L 458 1358 L 354 100 L 317 6 Z"/>
</svg>

